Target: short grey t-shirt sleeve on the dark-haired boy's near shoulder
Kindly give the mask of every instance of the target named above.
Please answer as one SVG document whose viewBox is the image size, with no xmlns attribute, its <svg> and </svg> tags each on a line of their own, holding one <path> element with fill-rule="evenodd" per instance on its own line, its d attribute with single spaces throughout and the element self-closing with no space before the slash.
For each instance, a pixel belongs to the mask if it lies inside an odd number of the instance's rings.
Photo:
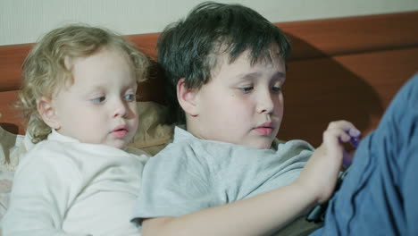
<svg viewBox="0 0 418 236">
<path fill-rule="evenodd" d="M 146 163 L 134 220 L 185 215 L 216 206 L 211 170 L 192 147 L 168 146 Z"/>
</svg>

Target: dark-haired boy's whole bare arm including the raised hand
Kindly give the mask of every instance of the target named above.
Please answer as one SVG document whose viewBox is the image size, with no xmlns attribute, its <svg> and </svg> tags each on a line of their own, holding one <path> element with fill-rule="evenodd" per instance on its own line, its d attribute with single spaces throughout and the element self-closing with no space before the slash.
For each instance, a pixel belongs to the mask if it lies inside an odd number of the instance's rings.
<svg viewBox="0 0 418 236">
<path fill-rule="evenodd" d="M 345 121 L 331 122 L 297 181 L 237 202 L 179 217 L 142 223 L 143 235 L 263 235 L 275 232 L 332 195 L 343 157 L 341 142 L 359 131 Z"/>
</svg>

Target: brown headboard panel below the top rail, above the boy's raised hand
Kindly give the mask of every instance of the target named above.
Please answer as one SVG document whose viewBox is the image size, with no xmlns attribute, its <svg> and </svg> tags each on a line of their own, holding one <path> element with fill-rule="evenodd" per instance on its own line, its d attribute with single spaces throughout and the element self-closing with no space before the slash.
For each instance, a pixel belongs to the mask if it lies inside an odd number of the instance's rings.
<svg viewBox="0 0 418 236">
<path fill-rule="evenodd" d="M 418 71 L 418 46 L 298 60 L 288 64 L 278 137 L 321 143 L 330 121 L 376 128 L 397 90 Z"/>
</svg>

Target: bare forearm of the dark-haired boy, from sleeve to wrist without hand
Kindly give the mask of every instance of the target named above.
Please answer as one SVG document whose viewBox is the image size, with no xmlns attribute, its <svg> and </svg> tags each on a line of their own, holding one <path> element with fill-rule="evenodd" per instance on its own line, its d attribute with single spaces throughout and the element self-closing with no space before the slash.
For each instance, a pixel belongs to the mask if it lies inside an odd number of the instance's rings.
<svg viewBox="0 0 418 236">
<path fill-rule="evenodd" d="M 144 220 L 143 235 L 263 235 L 284 227 L 316 204 L 298 181 L 230 204 L 179 217 Z"/>
</svg>

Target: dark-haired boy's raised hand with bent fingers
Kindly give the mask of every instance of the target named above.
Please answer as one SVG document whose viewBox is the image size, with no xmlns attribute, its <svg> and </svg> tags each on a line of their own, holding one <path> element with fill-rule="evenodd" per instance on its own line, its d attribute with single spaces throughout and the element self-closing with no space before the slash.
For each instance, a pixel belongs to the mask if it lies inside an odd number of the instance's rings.
<svg viewBox="0 0 418 236">
<path fill-rule="evenodd" d="M 357 140 L 360 136 L 351 122 L 330 122 L 322 135 L 322 144 L 305 165 L 299 183 L 314 194 L 317 204 L 328 200 L 334 191 L 344 157 L 343 143 Z"/>
</svg>

